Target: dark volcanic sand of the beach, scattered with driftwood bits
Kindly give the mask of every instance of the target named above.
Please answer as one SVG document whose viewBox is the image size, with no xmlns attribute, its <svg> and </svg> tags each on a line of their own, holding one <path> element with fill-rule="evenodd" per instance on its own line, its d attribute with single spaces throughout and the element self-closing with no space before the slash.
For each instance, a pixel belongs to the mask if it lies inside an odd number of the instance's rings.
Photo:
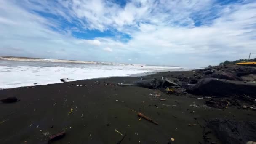
<svg viewBox="0 0 256 144">
<path fill-rule="evenodd" d="M 146 78 L 181 73 L 193 75 L 192 71 L 161 72 Z M 16 96 L 21 101 L 0 103 L 0 144 L 40 144 L 48 137 L 43 135 L 45 132 L 53 135 L 64 130 L 67 131 L 66 136 L 52 144 L 117 144 L 123 136 L 115 129 L 123 135 L 127 133 L 121 144 L 204 144 L 205 120 L 256 121 L 255 111 L 252 110 L 236 107 L 205 109 L 201 107 L 204 100 L 189 97 L 192 95 L 175 96 L 147 88 L 104 83 L 124 83 L 124 80 L 128 83 L 139 80 L 139 77 L 80 80 L 1 90 L 0 98 Z M 167 100 L 153 101 L 156 98 L 149 94 L 155 92 L 162 95 L 161 99 Z M 200 108 L 190 104 L 198 104 Z M 73 112 L 68 115 L 71 108 Z M 159 125 L 139 120 L 137 113 L 129 109 L 141 112 Z M 210 143 L 220 143 L 212 133 L 207 136 L 211 138 L 208 139 Z"/>
</svg>

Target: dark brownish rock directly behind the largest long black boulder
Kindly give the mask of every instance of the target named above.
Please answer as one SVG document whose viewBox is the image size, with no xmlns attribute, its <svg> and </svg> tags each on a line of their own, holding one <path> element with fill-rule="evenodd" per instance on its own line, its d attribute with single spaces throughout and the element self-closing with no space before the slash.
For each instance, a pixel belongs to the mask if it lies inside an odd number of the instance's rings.
<svg viewBox="0 0 256 144">
<path fill-rule="evenodd" d="M 225 72 L 225 71 L 215 71 L 209 77 L 225 79 L 225 80 L 242 80 L 240 77 L 237 77 L 231 72 Z"/>
</svg>

